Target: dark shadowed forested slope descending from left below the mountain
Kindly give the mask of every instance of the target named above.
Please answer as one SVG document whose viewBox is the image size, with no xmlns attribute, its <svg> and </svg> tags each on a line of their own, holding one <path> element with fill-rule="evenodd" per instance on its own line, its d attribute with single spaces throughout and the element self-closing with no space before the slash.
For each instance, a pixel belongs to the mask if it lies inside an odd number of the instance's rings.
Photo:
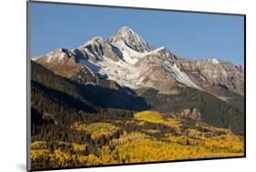
<svg viewBox="0 0 256 172">
<path fill-rule="evenodd" d="M 102 86 L 82 85 L 66 78 L 56 76 L 44 66 L 31 61 L 32 94 L 42 92 L 41 96 L 52 97 L 63 106 L 96 113 L 100 108 L 118 108 L 126 110 L 145 110 L 150 108 L 147 102 L 129 88 L 122 88 L 115 83 L 99 82 Z M 33 98 L 36 96 L 33 95 Z M 32 105 L 34 99 L 32 98 Z"/>
</svg>

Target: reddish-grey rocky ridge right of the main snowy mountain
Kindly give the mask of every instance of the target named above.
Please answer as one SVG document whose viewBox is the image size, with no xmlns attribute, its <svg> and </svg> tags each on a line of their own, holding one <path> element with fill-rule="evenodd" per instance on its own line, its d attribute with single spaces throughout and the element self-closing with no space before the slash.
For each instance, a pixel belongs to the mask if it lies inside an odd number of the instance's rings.
<svg viewBox="0 0 256 172">
<path fill-rule="evenodd" d="M 220 89 L 244 95 L 244 70 L 242 66 L 234 66 L 218 59 L 176 62 L 180 69 L 202 89 L 221 96 Z"/>
</svg>

